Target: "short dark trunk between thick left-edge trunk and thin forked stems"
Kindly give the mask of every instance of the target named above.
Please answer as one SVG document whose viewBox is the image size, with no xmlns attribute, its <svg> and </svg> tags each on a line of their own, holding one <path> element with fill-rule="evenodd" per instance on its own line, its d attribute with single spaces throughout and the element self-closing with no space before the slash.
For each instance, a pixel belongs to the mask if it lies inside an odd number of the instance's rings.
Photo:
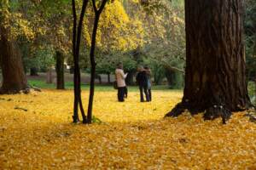
<svg viewBox="0 0 256 170">
<path fill-rule="evenodd" d="M 65 89 L 64 81 L 64 55 L 60 51 L 56 51 L 56 75 L 57 89 Z"/>
</svg>

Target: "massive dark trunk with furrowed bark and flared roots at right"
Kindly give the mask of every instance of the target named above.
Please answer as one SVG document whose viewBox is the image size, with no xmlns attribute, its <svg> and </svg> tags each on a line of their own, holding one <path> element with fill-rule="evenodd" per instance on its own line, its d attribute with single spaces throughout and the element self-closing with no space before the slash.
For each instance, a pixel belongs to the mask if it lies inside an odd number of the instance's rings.
<svg viewBox="0 0 256 170">
<path fill-rule="evenodd" d="M 247 93 L 240 0 L 185 0 L 186 70 L 183 100 L 166 116 L 188 109 L 218 116 L 252 106 Z"/>
</svg>

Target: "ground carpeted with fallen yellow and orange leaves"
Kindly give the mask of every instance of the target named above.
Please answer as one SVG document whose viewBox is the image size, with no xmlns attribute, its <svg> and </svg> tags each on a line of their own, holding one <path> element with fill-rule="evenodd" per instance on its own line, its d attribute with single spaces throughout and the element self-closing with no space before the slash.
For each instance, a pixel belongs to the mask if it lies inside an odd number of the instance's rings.
<svg viewBox="0 0 256 170">
<path fill-rule="evenodd" d="M 201 115 L 163 119 L 182 93 L 96 92 L 102 123 L 73 125 L 73 92 L 0 96 L 0 169 L 256 169 L 256 124 L 236 113 L 227 125 Z M 83 94 L 87 105 L 88 93 Z"/>
</svg>

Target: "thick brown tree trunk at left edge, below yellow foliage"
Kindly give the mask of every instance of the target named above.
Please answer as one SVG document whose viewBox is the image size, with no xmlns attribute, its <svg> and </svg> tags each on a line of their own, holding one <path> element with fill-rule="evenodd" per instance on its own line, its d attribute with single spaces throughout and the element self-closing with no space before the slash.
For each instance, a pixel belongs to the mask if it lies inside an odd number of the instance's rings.
<svg viewBox="0 0 256 170">
<path fill-rule="evenodd" d="M 0 26 L 0 31 L 0 63 L 3 74 L 0 94 L 17 94 L 20 90 L 28 89 L 20 50 L 17 44 L 10 40 L 9 31 L 3 26 Z"/>
</svg>

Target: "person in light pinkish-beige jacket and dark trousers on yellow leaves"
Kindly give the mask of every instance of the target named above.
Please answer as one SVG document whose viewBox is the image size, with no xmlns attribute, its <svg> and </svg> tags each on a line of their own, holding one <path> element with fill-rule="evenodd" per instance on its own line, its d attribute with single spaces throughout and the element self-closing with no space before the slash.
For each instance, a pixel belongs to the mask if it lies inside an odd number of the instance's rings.
<svg viewBox="0 0 256 170">
<path fill-rule="evenodd" d="M 115 70 L 115 78 L 116 78 L 117 87 L 118 87 L 119 102 L 125 101 L 124 97 L 125 97 L 125 88 L 126 88 L 126 84 L 125 84 L 126 76 L 127 76 L 127 73 L 125 74 L 123 70 L 123 64 L 119 63 Z"/>
</svg>

